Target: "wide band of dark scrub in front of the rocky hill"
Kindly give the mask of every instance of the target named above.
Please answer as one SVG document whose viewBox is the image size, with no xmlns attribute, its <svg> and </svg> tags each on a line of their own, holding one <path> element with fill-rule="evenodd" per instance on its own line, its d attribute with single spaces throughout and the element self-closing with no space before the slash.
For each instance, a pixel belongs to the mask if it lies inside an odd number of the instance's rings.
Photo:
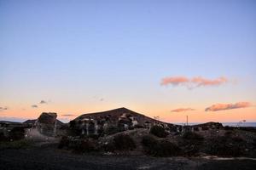
<svg viewBox="0 0 256 170">
<path fill-rule="evenodd" d="M 153 127 L 158 128 L 158 127 Z M 161 128 L 161 127 L 160 127 Z M 62 137 L 59 148 L 75 152 L 112 152 L 113 154 L 145 153 L 149 156 L 255 156 L 256 139 L 246 139 L 241 132 L 221 131 L 212 133 L 185 132 L 182 134 L 155 135 L 154 130 L 134 129 L 96 138 Z M 161 131 L 162 134 L 163 131 Z M 143 149 L 143 150 L 141 150 Z"/>
</svg>

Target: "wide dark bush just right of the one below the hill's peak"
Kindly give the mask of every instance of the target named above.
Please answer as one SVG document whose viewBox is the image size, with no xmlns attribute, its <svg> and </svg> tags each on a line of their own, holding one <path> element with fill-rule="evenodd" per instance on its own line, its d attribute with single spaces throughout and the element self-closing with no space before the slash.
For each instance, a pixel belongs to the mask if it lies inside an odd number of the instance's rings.
<svg viewBox="0 0 256 170">
<path fill-rule="evenodd" d="M 177 156 L 180 153 L 176 144 L 166 139 L 158 141 L 151 135 L 143 136 L 142 144 L 144 151 L 152 156 Z"/>
</svg>

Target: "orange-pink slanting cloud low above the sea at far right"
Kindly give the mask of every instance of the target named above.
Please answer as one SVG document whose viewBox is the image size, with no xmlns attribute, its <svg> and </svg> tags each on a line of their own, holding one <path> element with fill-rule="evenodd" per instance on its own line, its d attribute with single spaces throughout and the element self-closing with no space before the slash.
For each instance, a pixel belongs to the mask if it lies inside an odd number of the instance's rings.
<svg viewBox="0 0 256 170">
<path fill-rule="evenodd" d="M 236 104 L 215 104 L 207 107 L 205 111 L 224 111 L 230 109 L 240 109 L 253 106 L 250 102 L 238 102 Z"/>
</svg>

